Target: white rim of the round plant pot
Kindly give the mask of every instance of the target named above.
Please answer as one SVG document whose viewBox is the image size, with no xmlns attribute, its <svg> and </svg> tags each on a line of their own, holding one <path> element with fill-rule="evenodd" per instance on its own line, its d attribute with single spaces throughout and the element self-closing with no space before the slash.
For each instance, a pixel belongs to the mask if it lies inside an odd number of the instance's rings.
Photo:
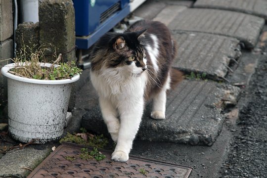
<svg viewBox="0 0 267 178">
<path fill-rule="evenodd" d="M 44 62 L 40 62 L 40 64 L 41 66 L 45 66 L 45 67 L 50 67 L 52 65 L 51 63 L 44 63 Z M 29 78 L 19 77 L 19 76 L 9 73 L 8 71 L 14 67 L 15 67 L 15 63 L 7 64 L 1 68 L 1 73 L 7 78 L 21 81 L 21 82 L 32 83 L 32 84 L 46 84 L 46 85 L 69 84 L 69 83 L 76 82 L 80 79 L 80 74 L 76 74 L 71 79 L 62 79 L 62 80 L 29 79 Z"/>
</svg>

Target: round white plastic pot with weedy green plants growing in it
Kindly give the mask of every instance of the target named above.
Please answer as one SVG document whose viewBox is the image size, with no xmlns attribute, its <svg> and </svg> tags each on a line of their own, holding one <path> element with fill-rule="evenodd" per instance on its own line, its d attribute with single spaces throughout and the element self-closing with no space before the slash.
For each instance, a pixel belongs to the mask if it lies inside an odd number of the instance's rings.
<svg viewBox="0 0 267 178">
<path fill-rule="evenodd" d="M 16 140 L 45 143 L 63 134 L 71 84 L 80 78 L 75 62 L 45 61 L 44 50 L 38 48 L 30 59 L 20 52 L 14 63 L 1 73 L 7 77 L 8 131 Z"/>
</svg>

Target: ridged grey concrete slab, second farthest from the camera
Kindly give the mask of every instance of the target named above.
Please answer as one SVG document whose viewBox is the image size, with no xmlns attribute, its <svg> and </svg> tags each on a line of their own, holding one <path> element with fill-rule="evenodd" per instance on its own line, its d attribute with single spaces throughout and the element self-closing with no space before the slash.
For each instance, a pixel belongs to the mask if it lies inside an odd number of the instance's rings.
<svg viewBox="0 0 267 178">
<path fill-rule="evenodd" d="M 168 25 L 171 30 L 205 32 L 233 37 L 247 48 L 253 48 L 265 20 L 240 12 L 215 9 L 187 8 Z"/>
</svg>

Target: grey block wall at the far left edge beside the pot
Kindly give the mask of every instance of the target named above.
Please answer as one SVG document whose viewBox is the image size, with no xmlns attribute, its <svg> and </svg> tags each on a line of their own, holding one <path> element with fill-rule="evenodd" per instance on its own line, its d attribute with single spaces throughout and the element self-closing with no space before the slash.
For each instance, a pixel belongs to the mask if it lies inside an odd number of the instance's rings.
<svg viewBox="0 0 267 178">
<path fill-rule="evenodd" d="M 0 68 L 13 57 L 12 0 L 0 0 Z M 7 100 L 6 79 L 0 74 L 0 120 Z"/>
</svg>

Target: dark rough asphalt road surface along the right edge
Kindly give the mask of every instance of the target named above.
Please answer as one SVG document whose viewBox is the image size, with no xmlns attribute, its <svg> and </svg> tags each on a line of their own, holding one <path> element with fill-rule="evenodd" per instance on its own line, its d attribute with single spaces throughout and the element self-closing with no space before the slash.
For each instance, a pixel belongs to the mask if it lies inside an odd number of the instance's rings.
<svg viewBox="0 0 267 178">
<path fill-rule="evenodd" d="M 220 178 L 267 178 L 267 56 L 260 57 Z"/>
</svg>

